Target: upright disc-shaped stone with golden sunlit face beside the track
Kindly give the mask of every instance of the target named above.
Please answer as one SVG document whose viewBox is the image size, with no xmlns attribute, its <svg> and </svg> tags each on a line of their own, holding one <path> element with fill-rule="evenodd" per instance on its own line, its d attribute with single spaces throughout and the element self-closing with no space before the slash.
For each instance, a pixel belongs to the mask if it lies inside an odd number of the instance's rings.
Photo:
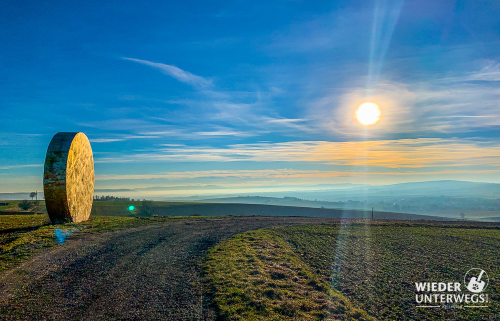
<svg viewBox="0 0 500 321">
<path fill-rule="evenodd" d="M 48 144 L 43 171 L 43 193 L 50 220 L 87 220 L 93 184 L 93 156 L 87 136 L 82 132 L 56 133 Z"/>
</svg>

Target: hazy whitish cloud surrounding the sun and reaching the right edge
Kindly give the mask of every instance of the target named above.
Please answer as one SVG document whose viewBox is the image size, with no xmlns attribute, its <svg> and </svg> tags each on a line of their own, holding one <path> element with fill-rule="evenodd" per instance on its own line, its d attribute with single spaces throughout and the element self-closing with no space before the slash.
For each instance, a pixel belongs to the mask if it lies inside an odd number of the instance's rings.
<svg viewBox="0 0 500 321">
<path fill-rule="evenodd" d="M 310 124 L 315 124 L 315 131 L 346 137 L 403 133 L 440 136 L 488 129 L 500 125 L 498 117 L 494 117 L 500 110 L 500 89 L 484 81 L 457 81 L 455 77 L 414 82 L 382 79 L 371 91 L 360 78 L 359 86 L 308 102 L 307 118 L 313 120 Z M 368 129 L 354 114 L 365 101 L 377 103 L 382 110 L 380 121 Z"/>
</svg>

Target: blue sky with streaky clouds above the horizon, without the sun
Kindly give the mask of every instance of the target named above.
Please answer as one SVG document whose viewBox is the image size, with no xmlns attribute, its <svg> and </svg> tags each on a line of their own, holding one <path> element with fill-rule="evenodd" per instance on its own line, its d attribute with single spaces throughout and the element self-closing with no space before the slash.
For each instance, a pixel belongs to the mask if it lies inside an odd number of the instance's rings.
<svg viewBox="0 0 500 321">
<path fill-rule="evenodd" d="M 59 131 L 88 136 L 96 189 L 500 183 L 499 1 L 0 10 L 0 192 L 42 190 Z M 369 126 L 366 101 L 381 110 Z"/>
</svg>

